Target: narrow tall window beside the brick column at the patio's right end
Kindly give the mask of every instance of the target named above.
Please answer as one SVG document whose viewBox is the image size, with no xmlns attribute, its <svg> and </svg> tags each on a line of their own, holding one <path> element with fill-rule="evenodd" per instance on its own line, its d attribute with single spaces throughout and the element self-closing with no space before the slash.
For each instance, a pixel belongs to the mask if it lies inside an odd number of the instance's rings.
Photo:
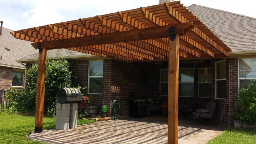
<svg viewBox="0 0 256 144">
<path fill-rule="evenodd" d="M 226 61 L 215 63 L 215 98 L 226 99 Z"/>
</svg>

